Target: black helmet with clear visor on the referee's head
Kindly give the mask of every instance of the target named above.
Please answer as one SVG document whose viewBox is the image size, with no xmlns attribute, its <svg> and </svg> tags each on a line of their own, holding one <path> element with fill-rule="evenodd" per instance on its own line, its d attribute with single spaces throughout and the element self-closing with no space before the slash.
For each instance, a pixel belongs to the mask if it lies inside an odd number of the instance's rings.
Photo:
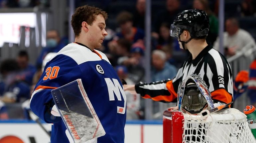
<svg viewBox="0 0 256 143">
<path fill-rule="evenodd" d="M 183 30 L 188 30 L 192 38 L 201 38 L 208 35 L 209 18 L 198 9 L 185 10 L 176 16 L 170 28 L 172 37 L 179 37 Z"/>
</svg>

